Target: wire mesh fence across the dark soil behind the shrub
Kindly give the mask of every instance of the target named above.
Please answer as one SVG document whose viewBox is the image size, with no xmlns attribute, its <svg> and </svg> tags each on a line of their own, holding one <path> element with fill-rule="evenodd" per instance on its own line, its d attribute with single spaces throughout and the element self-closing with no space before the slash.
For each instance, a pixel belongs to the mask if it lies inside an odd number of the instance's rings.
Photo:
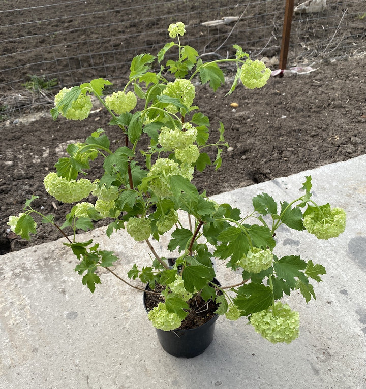
<svg viewBox="0 0 366 389">
<path fill-rule="evenodd" d="M 288 65 L 364 55 L 366 2 L 311 2 L 324 7 L 294 13 Z M 155 54 L 169 39 L 167 27 L 175 21 L 186 24 L 184 44 L 194 46 L 203 60 L 232 56 L 232 45 L 239 44 L 276 69 L 286 0 L 35 0 L 28 7 L 19 3 L 0 4 L 0 118 L 34 105 L 40 96 L 26 87 L 43 91 L 45 99 L 53 84 L 124 79 L 131 59 L 141 52 Z M 295 6 L 299 3 L 295 0 Z"/>
</svg>

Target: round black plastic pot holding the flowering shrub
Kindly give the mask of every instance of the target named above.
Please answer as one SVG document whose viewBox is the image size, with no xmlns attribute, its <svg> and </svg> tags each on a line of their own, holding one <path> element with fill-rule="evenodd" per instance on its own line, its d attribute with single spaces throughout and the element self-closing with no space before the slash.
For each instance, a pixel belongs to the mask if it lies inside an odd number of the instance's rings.
<svg viewBox="0 0 366 389">
<path fill-rule="evenodd" d="M 212 280 L 216 285 L 221 285 L 220 282 L 214 278 Z M 146 288 L 148 288 L 148 284 Z M 145 305 L 145 296 L 143 296 L 143 304 Z M 171 330 L 163 331 L 156 328 L 158 339 L 162 347 L 170 355 L 181 358 L 193 358 L 200 355 L 211 344 L 214 339 L 215 323 L 219 315 L 215 315 L 204 325 L 193 328 L 191 330 Z"/>
</svg>

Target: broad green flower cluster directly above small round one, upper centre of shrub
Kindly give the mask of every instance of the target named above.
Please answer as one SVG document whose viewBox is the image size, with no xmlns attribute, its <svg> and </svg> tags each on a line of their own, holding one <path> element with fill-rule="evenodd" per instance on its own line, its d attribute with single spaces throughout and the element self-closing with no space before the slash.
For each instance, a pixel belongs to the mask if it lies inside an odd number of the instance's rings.
<svg viewBox="0 0 366 389">
<path fill-rule="evenodd" d="M 158 142 L 164 150 L 172 151 L 174 149 L 185 149 L 196 142 L 196 139 L 197 129 L 190 123 L 185 123 L 183 131 L 180 131 L 179 128 L 162 127 Z"/>
</svg>

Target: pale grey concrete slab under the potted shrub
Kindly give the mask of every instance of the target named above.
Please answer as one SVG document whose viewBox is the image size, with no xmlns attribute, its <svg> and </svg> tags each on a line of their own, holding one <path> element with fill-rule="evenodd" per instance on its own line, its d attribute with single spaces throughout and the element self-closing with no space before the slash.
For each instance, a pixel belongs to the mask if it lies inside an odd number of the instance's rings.
<svg viewBox="0 0 366 389">
<path fill-rule="evenodd" d="M 300 337 L 290 345 L 262 339 L 246 319 L 219 318 L 204 354 L 177 359 L 160 347 L 142 295 L 109 274 L 90 294 L 63 240 L 3 255 L 0 388 L 366 387 L 365 173 L 366 156 L 360 156 L 214 197 L 249 212 L 252 196 L 265 191 L 291 200 L 312 175 L 314 199 L 346 210 L 346 231 L 336 239 L 278 231 L 278 255 L 301 253 L 327 268 L 324 282 L 315 285 L 316 301 L 306 305 L 296 293 L 287 299 L 301 318 Z M 126 240 L 124 231 L 111 240 L 104 229 L 84 238 L 90 236 L 116 251 L 118 274 L 136 256 L 141 264 L 149 261 L 145 246 Z M 163 254 L 161 244 L 156 249 Z M 223 266 L 218 278 L 230 281 Z"/>
</svg>

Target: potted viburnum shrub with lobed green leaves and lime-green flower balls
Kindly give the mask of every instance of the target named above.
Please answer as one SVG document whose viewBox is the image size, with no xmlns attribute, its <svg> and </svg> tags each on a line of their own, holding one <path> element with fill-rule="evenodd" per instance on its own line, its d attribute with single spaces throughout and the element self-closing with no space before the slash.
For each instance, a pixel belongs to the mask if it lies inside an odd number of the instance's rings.
<svg viewBox="0 0 366 389">
<path fill-rule="evenodd" d="M 246 216 L 197 190 L 191 183 L 194 172 L 212 164 L 218 169 L 222 151 L 228 147 L 222 123 L 216 142 L 208 142 L 209 119 L 194 105 L 197 80 L 215 91 L 225 83 L 220 64 L 233 62 L 237 70 L 230 94 L 239 81 L 250 89 L 262 87 L 270 70 L 262 62 L 250 60 L 237 45 L 234 58 L 203 62 L 193 47 L 180 44 L 179 37 L 185 33 L 183 23 L 171 24 L 168 31 L 177 42 L 165 44 L 157 56 L 144 53 L 134 57 L 123 90 L 103 96 L 105 86 L 111 83 L 99 78 L 63 88 L 55 96 L 51 110 L 54 120 L 59 115 L 85 119 L 92 109 L 90 96 L 95 96 L 111 115 L 109 124 L 120 128 L 123 139 L 123 144 L 111 142 L 108 131 L 99 128 L 84 143 L 70 144 L 69 156 L 60 158 L 56 172 L 44 178 L 51 196 L 76 203 L 59 227 L 74 231 L 73 239 L 67 238 L 64 244 L 79 260 L 75 271 L 93 293 L 101 282 L 98 268 L 116 275 L 110 266 L 118 258 L 92 239 L 78 242 L 76 231 L 92 229 L 93 220 L 112 218 L 106 229 L 108 237 L 125 228 L 132 239 L 146 241 L 154 256 L 149 266 L 134 264 L 128 277 L 148 282 L 151 287 L 162 285 L 164 299 L 148 314 L 155 327 L 165 331 L 178 328 L 188 314 L 188 303 L 199 295 L 205 301 L 214 300 L 219 315 L 230 320 L 246 316 L 269 341 L 289 343 L 298 336 L 299 314 L 280 300 L 292 290 L 299 290 L 306 302 L 315 298 L 311 281 L 321 281 L 325 268 L 299 255 L 278 257 L 276 231 L 285 224 L 294 230 L 307 230 L 319 239 L 337 237 L 345 229 L 345 212 L 312 200 L 311 177 L 302 184 L 302 195 L 290 203 L 284 201 L 279 206 L 266 193 L 254 197 L 253 212 Z M 164 66 L 164 57 L 171 49 L 177 59 L 169 59 Z M 139 110 L 138 102 L 142 107 Z M 144 150 L 139 149 L 142 137 L 149 139 Z M 209 157 L 208 148 L 217 150 L 215 160 Z M 143 158 L 137 158 L 138 154 Z M 97 156 L 102 157 L 104 174 L 93 182 L 80 178 L 100 160 Z M 95 203 L 87 201 L 90 194 L 97 198 Z M 54 223 L 52 216 L 32 207 L 35 198 L 26 201 L 19 216 L 9 218 L 11 229 L 25 239 L 36 233 L 34 216 Z M 151 244 L 165 233 L 170 234 L 167 248 L 179 252 L 172 267 Z M 242 281 L 228 287 L 214 285 L 213 258 L 236 273 L 239 270 Z"/>
</svg>

